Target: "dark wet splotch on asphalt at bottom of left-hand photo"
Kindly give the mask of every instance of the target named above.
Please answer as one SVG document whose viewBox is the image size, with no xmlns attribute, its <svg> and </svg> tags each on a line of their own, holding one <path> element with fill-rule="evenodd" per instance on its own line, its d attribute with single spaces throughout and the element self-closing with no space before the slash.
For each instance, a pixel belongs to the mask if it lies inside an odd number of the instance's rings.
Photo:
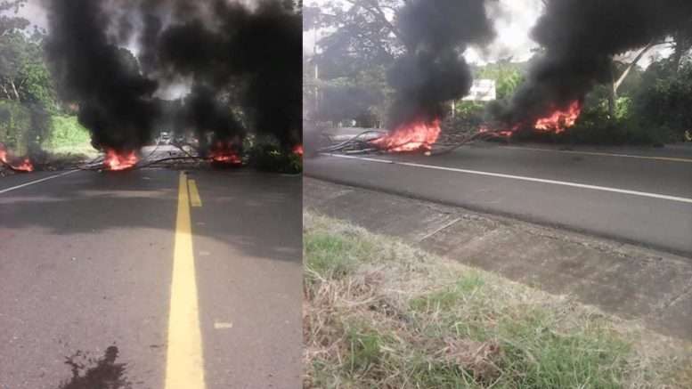
<svg viewBox="0 0 692 389">
<path fill-rule="evenodd" d="M 77 351 L 65 361 L 72 370 L 72 377 L 57 389 L 133 389 L 126 378 L 126 363 L 116 363 L 117 359 L 115 345 L 107 348 L 102 358 Z"/>
</svg>

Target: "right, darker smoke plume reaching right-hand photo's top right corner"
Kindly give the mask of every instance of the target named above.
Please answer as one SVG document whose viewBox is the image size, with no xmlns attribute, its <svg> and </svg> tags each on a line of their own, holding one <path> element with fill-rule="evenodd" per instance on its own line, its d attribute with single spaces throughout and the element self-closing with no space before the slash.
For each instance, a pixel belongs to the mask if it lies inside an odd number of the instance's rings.
<svg viewBox="0 0 692 389">
<path fill-rule="evenodd" d="M 509 104 L 492 107 L 509 124 L 533 123 L 582 101 L 612 80 L 615 55 L 664 39 L 692 18 L 689 0 L 549 0 L 531 31 L 544 53 Z"/>
</svg>

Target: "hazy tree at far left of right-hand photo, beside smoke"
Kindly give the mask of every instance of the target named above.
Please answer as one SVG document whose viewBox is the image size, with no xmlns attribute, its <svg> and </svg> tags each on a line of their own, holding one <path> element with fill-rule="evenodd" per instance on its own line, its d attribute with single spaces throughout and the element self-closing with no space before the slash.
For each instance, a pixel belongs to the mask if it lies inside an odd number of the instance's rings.
<svg viewBox="0 0 692 389">
<path fill-rule="evenodd" d="M 405 47 L 395 14 L 403 0 L 341 0 L 303 8 L 304 29 L 329 31 L 304 60 L 308 113 L 330 121 L 381 126 L 391 91 L 386 70 Z M 310 114 L 310 116 L 313 116 Z"/>
</svg>

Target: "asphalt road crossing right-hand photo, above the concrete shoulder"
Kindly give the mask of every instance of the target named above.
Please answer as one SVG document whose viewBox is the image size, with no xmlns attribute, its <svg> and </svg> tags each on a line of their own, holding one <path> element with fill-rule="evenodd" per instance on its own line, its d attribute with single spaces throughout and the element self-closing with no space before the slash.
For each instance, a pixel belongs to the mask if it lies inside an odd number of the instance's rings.
<svg viewBox="0 0 692 389">
<path fill-rule="evenodd" d="M 692 258 L 692 147 L 577 149 L 480 143 L 449 154 L 321 155 L 305 174 Z"/>
</svg>

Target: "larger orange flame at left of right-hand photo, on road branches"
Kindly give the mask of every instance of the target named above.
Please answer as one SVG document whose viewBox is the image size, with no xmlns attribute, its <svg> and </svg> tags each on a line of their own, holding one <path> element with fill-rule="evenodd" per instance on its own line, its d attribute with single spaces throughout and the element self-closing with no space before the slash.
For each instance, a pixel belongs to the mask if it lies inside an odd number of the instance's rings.
<svg viewBox="0 0 692 389">
<path fill-rule="evenodd" d="M 371 142 L 389 152 L 432 150 L 440 131 L 439 119 L 429 123 L 416 121 L 398 126 L 389 134 Z"/>
</svg>

